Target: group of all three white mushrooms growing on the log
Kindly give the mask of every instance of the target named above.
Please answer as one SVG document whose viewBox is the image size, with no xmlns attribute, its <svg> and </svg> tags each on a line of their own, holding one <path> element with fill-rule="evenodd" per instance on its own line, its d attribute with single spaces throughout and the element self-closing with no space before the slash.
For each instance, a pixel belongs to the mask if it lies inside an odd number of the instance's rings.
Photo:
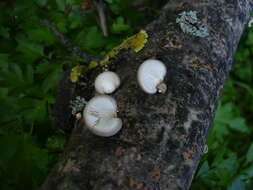
<svg viewBox="0 0 253 190">
<path fill-rule="evenodd" d="M 165 65 L 155 59 L 144 61 L 137 73 L 137 80 L 148 94 L 165 93 Z M 95 79 L 95 89 L 99 95 L 93 97 L 83 110 L 85 126 L 95 135 L 110 137 L 122 128 L 122 120 L 117 117 L 116 100 L 107 95 L 115 92 L 120 86 L 119 76 L 111 71 L 100 73 Z"/>
</svg>

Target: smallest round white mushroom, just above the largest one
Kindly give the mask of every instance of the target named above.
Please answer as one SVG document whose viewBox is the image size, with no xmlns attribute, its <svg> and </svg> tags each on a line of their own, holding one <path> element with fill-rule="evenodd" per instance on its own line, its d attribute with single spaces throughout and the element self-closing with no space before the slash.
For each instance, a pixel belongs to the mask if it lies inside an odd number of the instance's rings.
<svg viewBox="0 0 253 190">
<path fill-rule="evenodd" d="M 119 76 L 111 71 L 99 74 L 95 80 L 95 89 L 100 94 L 113 93 L 120 85 Z"/>
</svg>

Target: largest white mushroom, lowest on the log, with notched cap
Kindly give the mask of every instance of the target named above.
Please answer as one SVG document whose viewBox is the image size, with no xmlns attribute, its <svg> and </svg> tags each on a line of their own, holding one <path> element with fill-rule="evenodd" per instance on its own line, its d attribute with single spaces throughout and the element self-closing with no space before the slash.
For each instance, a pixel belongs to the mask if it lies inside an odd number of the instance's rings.
<svg viewBox="0 0 253 190">
<path fill-rule="evenodd" d="M 113 136 L 122 127 L 116 101 L 107 95 L 92 98 L 84 108 L 83 118 L 87 128 L 98 136 Z"/>
</svg>

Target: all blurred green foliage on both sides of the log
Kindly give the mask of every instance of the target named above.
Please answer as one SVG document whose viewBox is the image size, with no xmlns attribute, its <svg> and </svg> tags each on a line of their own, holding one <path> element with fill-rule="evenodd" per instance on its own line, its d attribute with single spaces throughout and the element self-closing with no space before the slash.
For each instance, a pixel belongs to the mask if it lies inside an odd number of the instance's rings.
<svg viewBox="0 0 253 190">
<path fill-rule="evenodd" d="M 133 2 L 105 0 L 108 37 L 96 9 L 84 0 L 0 2 L 0 189 L 37 189 L 68 138 L 51 127 L 52 105 L 62 72 L 84 63 L 41 19 L 50 20 L 83 50 L 104 55 L 159 12 L 157 2 Z M 192 190 L 253 189 L 252 58 L 253 28 L 248 28 Z"/>
</svg>

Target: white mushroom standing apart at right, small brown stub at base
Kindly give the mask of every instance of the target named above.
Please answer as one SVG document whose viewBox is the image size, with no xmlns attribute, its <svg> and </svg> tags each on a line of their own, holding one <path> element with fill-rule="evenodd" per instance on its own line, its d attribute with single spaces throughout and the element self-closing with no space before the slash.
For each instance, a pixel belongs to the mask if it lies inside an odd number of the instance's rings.
<svg viewBox="0 0 253 190">
<path fill-rule="evenodd" d="M 137 79 L 141 88 L 148 94 L 165 93 L 166 84 L 163 82 L 167 69 L 163 62 L 155 59 L 144 61 L 138 69 Z"/>
</svg>

